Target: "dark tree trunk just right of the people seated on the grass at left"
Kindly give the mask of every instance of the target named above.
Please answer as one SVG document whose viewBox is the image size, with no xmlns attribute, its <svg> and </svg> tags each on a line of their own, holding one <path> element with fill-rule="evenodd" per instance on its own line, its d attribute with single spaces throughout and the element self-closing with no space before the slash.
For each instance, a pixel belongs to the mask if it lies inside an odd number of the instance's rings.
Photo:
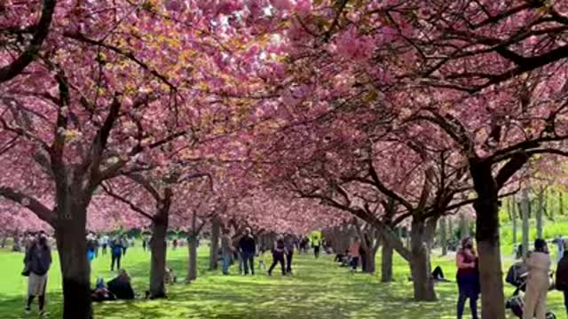
<svg viewBox="0 0 568 319">
<path fill-rule="evenodd" d="M 157 214 L 153 222 L 152 261 L 150 265 L 150 298 L 166 297 L 164 276 L 166 275 L 166 236 L 168 233 L 168 212 Z"/>
</svg>

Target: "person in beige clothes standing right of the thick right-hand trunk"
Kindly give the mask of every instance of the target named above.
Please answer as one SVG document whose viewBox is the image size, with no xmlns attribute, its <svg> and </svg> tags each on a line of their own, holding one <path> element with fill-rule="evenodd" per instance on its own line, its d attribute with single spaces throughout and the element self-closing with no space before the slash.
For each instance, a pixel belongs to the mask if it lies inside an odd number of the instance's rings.
<svg viewBox="0 0 568 319">
<path fill-rule="evenodd" d="M 547 315 L 547 293 L 550 287 L 550 255 L 544 239 L 534 240 L 534 252 L 525 260 L 529 275 L 526 280 L 524 319 L 545 319 Z"/>
</svg>

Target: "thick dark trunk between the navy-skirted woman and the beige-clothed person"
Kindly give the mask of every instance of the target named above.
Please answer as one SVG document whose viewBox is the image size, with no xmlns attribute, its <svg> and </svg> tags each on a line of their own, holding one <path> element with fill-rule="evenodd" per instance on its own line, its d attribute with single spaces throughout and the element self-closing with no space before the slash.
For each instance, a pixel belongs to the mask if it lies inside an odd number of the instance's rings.
<svg viewBox="0 0 568 319">
<path fill-rule="evenodd" d="M 469 166 L 477 192 L 476 238 L 481 281 L 481 317 L 505 319 L 501 251 L 499 245 L 498 186 L 491 163 L 471 161 Z"/>
</svg>

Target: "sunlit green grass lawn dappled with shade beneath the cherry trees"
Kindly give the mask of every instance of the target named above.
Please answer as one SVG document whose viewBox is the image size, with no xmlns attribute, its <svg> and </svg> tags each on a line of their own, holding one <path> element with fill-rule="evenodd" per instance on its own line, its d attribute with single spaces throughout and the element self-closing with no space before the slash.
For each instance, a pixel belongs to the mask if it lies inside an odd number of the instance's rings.
<svg viewBox="0 0 568 319">
<path fill-rule="evenodd" d="M 21 253 L 0 251 L 0 318 L 26 318 L 23 315 L 26 278 L 20 276 Z M 206 270 L 208 250 L 200 249 L 199 278 L 193 284 L 175 284 L 169 288 L 167 300 L 136 300 L 95 305 L 97 318 L 386 318 L 422 319 L 454 318 L 457 287 L 454 283 L 438 284 L 439 301 L 417 303 L 412 300 L 412 284 L 407 281 L 406 262 L 395 259 L 395 282 L 381 284 L 380 274 L 353 274 L 332 262 L 332 256 L 314 260 L 312 255 L 296 255 L 295 275 L 282 277 L 275 271 L 256 276 L 221 276 L 220 271 Z M 148 253 L 131 248 L 123 260 L 132 276 L 134 288 L 143 292 L 149 272 Z M 177 276 L 185 275 L 187 250 L 169 251 L 168 261 Z M 271 257 L 265 259 L 272 261 Z M 510 262 L 509 262 L 510 263 Z M 92 281 L 96 276 L 111 279 L 110 257 L 93 262 Z M 454 261 L 434 258 L 446 276 L 454 279 Z M 380 267 L 378 267 L 380 268 Z M 236 267 L 233 266 L 233 270 Z M 453 280 L 454 281 L 454 280 Z M 49 277 L 48 308 L 52 318 L 60 317 L 60 274 L 57 258 Z M 507 293 L 512 292 L 511 289 Z M 549 307 L 564 314 L 562 296 L 551 292 Z M 37 306 L 35 304 L 36 309 Z M 467 311 L 467 309 L 466 309 Z M 36 313 L 29 317 L 36 317 Z M 466 317 L 469 317 L 466 316 Z M 512 317 L 512 316 L 511 316 Z M 560 315 L 559 318 L 563 316 Z"/>
</svg>

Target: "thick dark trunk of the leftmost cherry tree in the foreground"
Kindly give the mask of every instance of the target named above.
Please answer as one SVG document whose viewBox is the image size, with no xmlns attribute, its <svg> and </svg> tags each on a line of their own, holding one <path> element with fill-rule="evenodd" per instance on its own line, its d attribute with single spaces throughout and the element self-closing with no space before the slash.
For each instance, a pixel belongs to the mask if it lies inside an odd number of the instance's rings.
<svg viewBox="0 0 568 319">
<path fill-rule="evenodd" d="M 58 193 L 55 227 L 63 281 L 63 319 L 91 319 L 86 217 L 89 201 L 71 191 Z"/>
</svg>

